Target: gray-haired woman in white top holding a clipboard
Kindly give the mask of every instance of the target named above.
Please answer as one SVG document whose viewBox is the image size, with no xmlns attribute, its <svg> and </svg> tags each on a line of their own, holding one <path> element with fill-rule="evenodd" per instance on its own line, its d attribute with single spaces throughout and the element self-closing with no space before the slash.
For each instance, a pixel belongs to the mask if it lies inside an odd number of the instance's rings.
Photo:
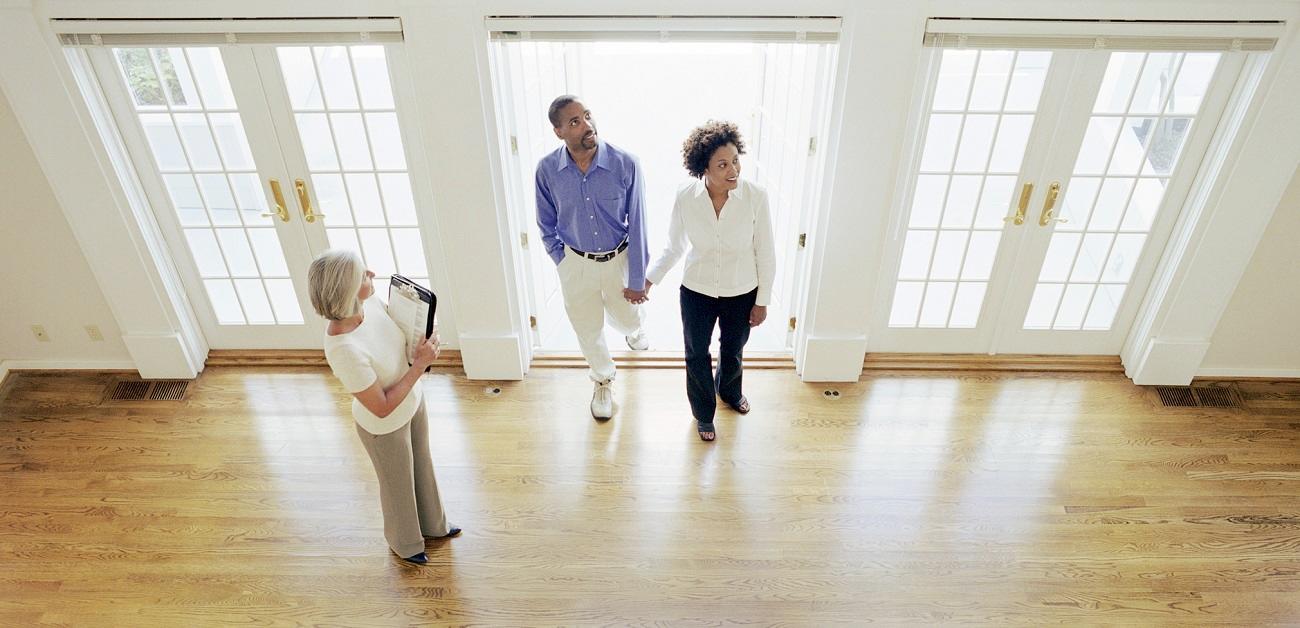
<svg viewBox="0 0 1300 628">
<path fill-rule="evenodd" d="M 384 538 L 403 560 L 424 564 L 425 538 L 460 534 L 442 511 L 420 390 L 420 376 L 438 358 L 438 335 L 407 365 L 402 330 L 370 298 L 373 278 L 360 255 L 342 250 L 325 251 L 307 272 L 312 308 L 329 320 L 325 360 L 352 394 L 356 434 L 380 478 Z"/>
</svg>

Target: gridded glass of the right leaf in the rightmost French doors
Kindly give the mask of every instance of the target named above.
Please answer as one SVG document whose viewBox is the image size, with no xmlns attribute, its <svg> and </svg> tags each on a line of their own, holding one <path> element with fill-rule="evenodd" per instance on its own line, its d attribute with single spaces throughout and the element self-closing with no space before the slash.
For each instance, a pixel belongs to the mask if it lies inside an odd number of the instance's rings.
<svg viewBox="0 0 1300 628">
<path fill-rule="evenodd" d="M 1113 328 L 1219 57 L 1110 53 L 1023 329 Z"/>
</svg>

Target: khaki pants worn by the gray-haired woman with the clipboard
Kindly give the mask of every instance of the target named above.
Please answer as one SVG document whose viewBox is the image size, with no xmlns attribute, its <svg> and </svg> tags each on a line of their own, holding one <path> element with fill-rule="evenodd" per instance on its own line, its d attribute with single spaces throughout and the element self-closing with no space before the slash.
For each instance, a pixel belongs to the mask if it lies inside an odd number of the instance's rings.
<svg viewBox="0 0 1300 628">
<path fill-rule="evenodd" d="M 433 477 L 429 417 L 424 403 L 399 430 L 376 436 L 358 425 L 356 433 L 380 478 L 384 538 L 402 558 L 424 551 L 424 537 L 441 537 L 448 532 L 447 516 L 438 498 L 438 482 Z"/>
</svg>

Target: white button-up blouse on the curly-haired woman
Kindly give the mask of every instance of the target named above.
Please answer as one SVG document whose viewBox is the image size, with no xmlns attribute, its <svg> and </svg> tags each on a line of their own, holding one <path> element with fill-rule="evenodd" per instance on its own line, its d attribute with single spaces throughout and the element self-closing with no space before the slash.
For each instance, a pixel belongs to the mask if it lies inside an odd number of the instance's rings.
<svg viewBox="0 0 1300 628">
<path fill-rule="evenodd" d="M 706 296 L 736 296 L 758 287 L 755 304 L 767 306 L 776 278 L 767 191 L 741 179 L 728 192 L 722 213 L 715 215 L 703 179 L 677 190 L 668 246 L 650 265 L 646 278 L 658 285 L 682 255 L 686 269 L 681 285 Z"/>
</svg>

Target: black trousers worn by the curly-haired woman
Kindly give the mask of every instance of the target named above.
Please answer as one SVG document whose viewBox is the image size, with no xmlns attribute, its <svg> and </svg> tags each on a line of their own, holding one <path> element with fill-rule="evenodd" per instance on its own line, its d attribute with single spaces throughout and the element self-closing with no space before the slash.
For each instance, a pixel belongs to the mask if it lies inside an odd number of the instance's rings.
<svg viewBox="0 0 1300 628">
<path fill-rule="evenodd" d="M 758 289 L 736 296 L 706 296 L 681 286 L 681 333 L 686 345 L 686 398 L 699 423 L 714 423 L 718 397 L 732 406 L 741 397 L 741 354 L 749 342 L 749 312 Z M 708 343 L 722 328 L 718 373 Z"/>
</svg>

